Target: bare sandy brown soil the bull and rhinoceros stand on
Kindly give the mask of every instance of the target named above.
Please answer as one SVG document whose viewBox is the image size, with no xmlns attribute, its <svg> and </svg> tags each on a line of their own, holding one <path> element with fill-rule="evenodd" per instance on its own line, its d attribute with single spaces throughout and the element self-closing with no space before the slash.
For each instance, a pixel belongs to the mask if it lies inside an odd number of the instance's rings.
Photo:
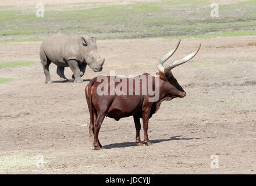
<svg viewBox="0 0 256 186">
<path fill-rule="evenodd" d="M 134 146 L 132 117 L 106 118 L 99 133 L 104 149 L 91 150 L 84 87 L 98 74 L 154 74 L 155 62 L 176 40 L 105 40 L 98 50 L 101 73 L 86 70 L 84 83 L 44 84 L 40 42 L 0 45 L 0 61 L 33 60 L 30 67 L 0 69 L 0 172 L 76 174 L 256 173 L 255 37 L 183 40 L 173 59 L 198 55 L 173 70 L 187 92 L 165 101 L 150 119 L 152 146 Z M 172 61 L 169 60 L 169 61 Z M 66 68 L 66 77 L 72 76 Z M 141 131 L 143 137 L 143 131 Z M 37 165 L 39 156 L 44 167 Z M 211 168 L 218 155 L 219 168 Z"/>
</svg>

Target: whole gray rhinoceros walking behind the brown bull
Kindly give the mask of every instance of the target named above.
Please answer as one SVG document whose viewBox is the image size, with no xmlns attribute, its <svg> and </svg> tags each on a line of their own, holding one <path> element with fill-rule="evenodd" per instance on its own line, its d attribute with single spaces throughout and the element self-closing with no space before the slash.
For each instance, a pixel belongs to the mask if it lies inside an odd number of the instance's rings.
<svg viewBox="0 0 256 186">
<path fill-rule="evenodd" d="M 69 66 L 73 71 L 74 82 L 81 83 L 81 77 L 90 66 L 93 71 L 101 71 L 105 61 L 97 52 L 96 38 L 79 35 L 54 34 L 42 42 L 40 59 L 44 68 L 45 83 L 51 83 L 49 65 L 57 65 L 57 74 L 61 81 L 66 81 L 64 68 Z"/>
</svg>

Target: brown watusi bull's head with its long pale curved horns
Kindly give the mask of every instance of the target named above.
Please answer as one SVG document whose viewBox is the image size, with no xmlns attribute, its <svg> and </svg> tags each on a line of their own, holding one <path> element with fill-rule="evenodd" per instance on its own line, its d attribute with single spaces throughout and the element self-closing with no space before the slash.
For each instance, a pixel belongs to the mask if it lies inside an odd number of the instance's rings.
<svg viewBox="0 0 256 186">
<path fill-rule="evenodd" d="M 193 53 L 190 53 L 190 55 L 187 55 L 186 57 L 184 57 L 182 59 L 176 60 L 175 62 L 170 63 L 169 65 L 163 65 L 163 63 L 165 63 L 166 60 L 168 60 L 170 58 L 170 56 L 172 56 L 173 53 L 175 53 L 175 51 L 179 47 L 179 44 L 180 44 L 180 40 L 177 43 L 176 47 L 172 51 L 166 53 L 166 55 L 163 56 L 162 59 L 159 59 L 159 61 L 157 63 L 157 69 L 159 70 L 159 73 L 157 73 L 157 74 L 164 81 L 163 90 L 164 90 L 164 92 L 166 92 L 166 96 L 171 97 L 171 98 L 175 98 L 175 97 L 183 98 L 184 96 L 186 96 L 186 92 L 179 85 L 176 78 L 173 76 L 171 70 L 174 67 L 182 65 L 183 63 L 186 63 L 187 61 L 192 59 L 197 54 L 197 52 L 199 51 L 199 49 L 201 47 L 201 44 L 200 44 L 199 47 L 197 48 L 197 50 Z"/>
</svg>

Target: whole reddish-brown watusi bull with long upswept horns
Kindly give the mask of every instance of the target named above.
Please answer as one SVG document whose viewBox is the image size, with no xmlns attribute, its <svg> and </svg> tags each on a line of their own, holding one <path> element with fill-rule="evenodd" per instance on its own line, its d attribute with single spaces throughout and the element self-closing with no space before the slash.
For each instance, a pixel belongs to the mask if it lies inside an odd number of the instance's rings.
<svg viewBox="0 0 256 186">
<path fill-rule="evenodd" d="M 134 93 L 134 84 L 129 85 L 127 84 L 126 88 L 122 87 L 123 94 L 110 94 L 110 88 L 111 85 L 111 78 L 116 78 L 116 76 L 98 76 L 93 78 L 93 80 L 90 81 L 89 84 L 86 86 L 86 99 L 88 103 L 88 109 L 90 112 L 90 126 L 89 126 L 89 134 L 90 134 L 90 140 L 93 142 L 94 149 L 101 149 L 102 145 L 98 140 L 98 134 L 99 130 L 101 128 L 101 124 L 105 118 L 111 117 L 115 120 L 119 120 L 122 117 L 129 117 L 133 116 L 133 120 L 136 127 L 136 145 L 142 145 L 142 142 L 140 140 L 140 118 L 143 119 L 143 129 L 144 129 L 144 141 L 145 145 L 151 145 L 150 140 L 148 139 L 148 120 L 154 113 L 157 112 L 159 109 L 159 106 L 161 105 L 162 101 L 170 101 L 173 98 L 183 98 L 186 96 L 186 92 L 183 90 L 183 88 L 179 85 L 176 78 L 173 76 L 172 72 L 170 71 L 176 66 L 182 65 L 183 63 L 187 62 L 188 60 L 192 59 L 197 52 L 199 51 L 200 46 L 197 48 L 197 50 L 190 55 L 180 59 L 176 60 L 173 63 L 170 63 L 169 65 L 163 66 L 163 63 L 166 62 L 170 58 L 170 56 L 175 53 L 177 47 L 179 47 L 180 40 L 177 43 L 176 47 L 168 52 L 165 56 L 163 56 L 162 59 L 158 61 L 157 69 L 159 72 L 157 72 L 158 76 L 151 76 L 148 73 L 144 73 L 140 76 L 136 76 L 133 78 L 120 78 L 119 82 L 115 82 L 112 85 L 114 85 L 114 88 L 117 88 L 120 82 L 129 80 L 131 82 L 136 81 L 139 79 L 139 94 L 125 94 L 128 93 L 129 90 L 133 90 Z M 159 91 L 159 99 L 154 101 L 149 101 L 152 95 L 141 94 L 143 91 L 143 85 L 142 85 L 142 79 L 141 77 L 146 77 L 147 81 L 144 81 L 146 85 L 152 84 L 152 87 L 155 87 L 156 91 L 158 89 Z M 108 81 L 108 88 L 109 90 L 106 92 L 105 95 L 99 95 L 98 94 L 98 87 L 100 84 L 102 84 L 102 81 L 98 81 L 98 79 L 104 79 Z M 149 79 L 152 79 L 152 81 L 149 81 Z M 157 80 L 157 81 L 155 81 Z M 157 83 L 158 82 L 158 83 Z M 106 83 L 106 82 L 105 82 Z M 145 88 L 145 87 L 144 87 Z M 102 88 L 100 88 L 102 90 Z M 135 90 L 136 91 L 136 90 Z"/>
</svg>

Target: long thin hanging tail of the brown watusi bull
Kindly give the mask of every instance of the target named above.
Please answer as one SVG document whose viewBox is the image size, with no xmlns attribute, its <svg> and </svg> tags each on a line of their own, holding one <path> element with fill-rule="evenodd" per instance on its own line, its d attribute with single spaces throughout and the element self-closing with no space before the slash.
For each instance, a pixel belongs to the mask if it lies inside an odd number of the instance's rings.
<svg viewBox="0 0 256 186">
<path fill-rule="evenodd" d="M 89 140 L 93 144 L 94 141 L 94 109 L 93 109 L 93 101 L 91 98 L 91 87 L 93 87 L 95 80 L 91 80 L 90 83 L 86 85 L 86 100 L 90 113 L 90 125 L 89 125 Z"/>
</svg>

